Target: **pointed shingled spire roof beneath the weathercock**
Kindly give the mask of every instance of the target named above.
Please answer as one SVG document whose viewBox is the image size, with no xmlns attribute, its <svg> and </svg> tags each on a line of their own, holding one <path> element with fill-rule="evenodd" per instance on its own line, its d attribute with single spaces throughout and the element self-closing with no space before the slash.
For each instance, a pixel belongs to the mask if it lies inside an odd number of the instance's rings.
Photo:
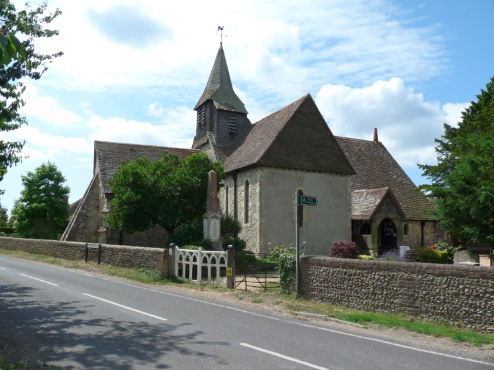
<svg viewBox="0 0 494 370">
<path fill-rule="evenodd" d="M 247 109 L 242 100 L 233 91 L 232 80 L 226 65 L 225 52 L 223 45 L 220 45 L 216 59 L 214 60 L 213 69 L 207 80 L 206 89 L 197 102 L 194 110 L 199 108 L 207 99 L 211 99 L 217 109 L 234 111 L 247 114 Z"/>
</svg>

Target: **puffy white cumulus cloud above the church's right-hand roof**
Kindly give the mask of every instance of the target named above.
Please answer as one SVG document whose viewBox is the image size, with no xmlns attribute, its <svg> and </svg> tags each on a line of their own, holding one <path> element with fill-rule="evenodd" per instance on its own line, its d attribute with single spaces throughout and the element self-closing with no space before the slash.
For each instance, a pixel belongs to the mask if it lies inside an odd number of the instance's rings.
<svg viewBox="0 0 494 370">
<path fill-rule="evenodd" d="M 379 141 L 403 166 L 434 163 L 443 123 L 460 121 L 468 105 L 424 101 L 398 78 L 364 88 L 325 85 L 316 102 L 335 135 L 372 140 L 377 127 Z"/>
</svg>

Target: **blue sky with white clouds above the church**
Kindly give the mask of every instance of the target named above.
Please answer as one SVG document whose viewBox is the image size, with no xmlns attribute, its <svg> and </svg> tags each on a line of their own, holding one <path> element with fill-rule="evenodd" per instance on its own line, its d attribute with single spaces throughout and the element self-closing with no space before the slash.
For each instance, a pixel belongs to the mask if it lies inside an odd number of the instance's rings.
<svg viewBox="0 0 494 370">
<path fill-rule="evenodd" d="M 18 10 L 25 0 L 12 0 Z M 33 1 L 36 4 L 36 1 Z M 434 139 L 494 76 L 492 0 L 48 0 L 64 55 L 23 81 L 22 164 L 0 189 L 10 210 L 21 175 L 48 160 L 83 196 L 94 140 L 190 148 L 219 47 L 252 123 L 310 93 L 334 135 L 379 141 L 412 181 L 435 164 Z M 491 35 L 491 36 L 490 36 Z"/>
</svg>

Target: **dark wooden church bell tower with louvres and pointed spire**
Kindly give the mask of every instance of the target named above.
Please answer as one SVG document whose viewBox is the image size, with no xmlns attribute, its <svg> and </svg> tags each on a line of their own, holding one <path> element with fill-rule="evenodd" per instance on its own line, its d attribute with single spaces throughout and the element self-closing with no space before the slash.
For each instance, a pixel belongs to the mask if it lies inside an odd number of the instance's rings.
<svg viewBox="0 0 494 370">
<path fill-rule="evenodd" d="M 222 43 L 194 110 L 197 123 L 193 149 L 206 144 L 207 133 L 213 135 L 216 145 L 230 147 L 251 124 L 244 103 L 233 90 Z"/>
</svg>

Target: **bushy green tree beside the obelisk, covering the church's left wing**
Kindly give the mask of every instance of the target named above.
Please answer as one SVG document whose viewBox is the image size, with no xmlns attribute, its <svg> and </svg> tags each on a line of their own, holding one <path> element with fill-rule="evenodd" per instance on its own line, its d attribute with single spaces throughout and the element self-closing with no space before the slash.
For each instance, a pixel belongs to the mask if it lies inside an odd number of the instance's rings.
<svg viewBox="0 0 494 370">
<path fill-rule="evenodd" d="M 122 162 L 110 181 L 115 193 L 110 201 L 110 226 L 133 233 L 160 225 L 171 235 L 178 227 L 200 219 L 206 212 L 207 174 L 211 169 L 222 186 L 223 166 L 213 163 L 206 153 L 180 161 L 176 154 L 165 152 L 156 162 L 147 158 Z"/>
</svg>

